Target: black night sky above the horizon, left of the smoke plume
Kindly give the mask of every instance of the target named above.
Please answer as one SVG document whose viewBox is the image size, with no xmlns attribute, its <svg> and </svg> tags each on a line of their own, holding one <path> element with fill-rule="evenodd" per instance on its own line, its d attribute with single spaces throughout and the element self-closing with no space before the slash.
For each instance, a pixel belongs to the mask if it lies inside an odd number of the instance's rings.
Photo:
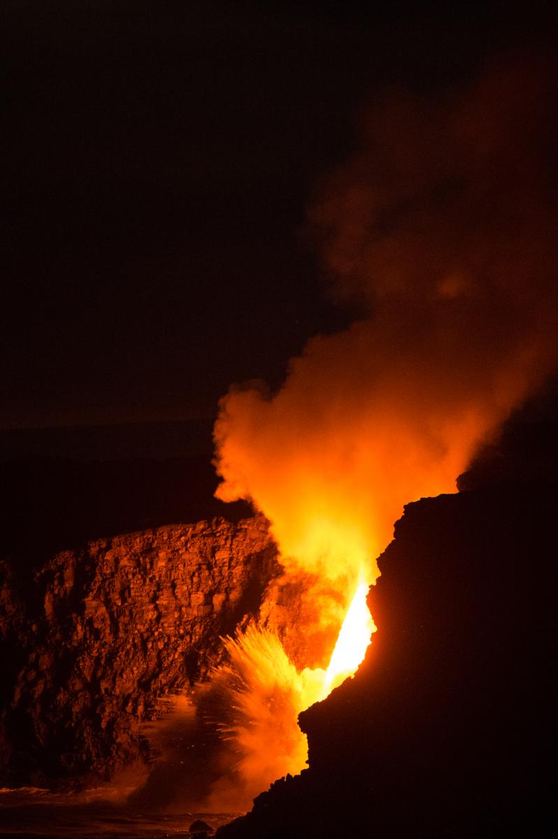
<svg viewBox="0 0 558 839">
<path fill-rule="evenodd" d="M 210 417 L 278 384 L 352 316 L 301 230 L 359 110 L 549 36 L 510 5 L 4 0 L 0 428 Z"/>
</svg>

